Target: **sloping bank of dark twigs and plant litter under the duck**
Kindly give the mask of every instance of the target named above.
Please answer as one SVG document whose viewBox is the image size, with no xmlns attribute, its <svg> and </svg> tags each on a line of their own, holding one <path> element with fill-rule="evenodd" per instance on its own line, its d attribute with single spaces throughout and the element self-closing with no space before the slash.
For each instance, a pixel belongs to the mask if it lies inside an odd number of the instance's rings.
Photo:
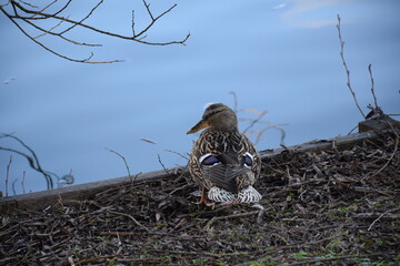
<svg viewBox="0 0 400 266">
<path fill-rule="evenodd" d="M 189 176 L 1 214 L 0 265 L 399 265 L 399 135 L 263 162 L 260 205 L 198 206 Z"/>
</svg>

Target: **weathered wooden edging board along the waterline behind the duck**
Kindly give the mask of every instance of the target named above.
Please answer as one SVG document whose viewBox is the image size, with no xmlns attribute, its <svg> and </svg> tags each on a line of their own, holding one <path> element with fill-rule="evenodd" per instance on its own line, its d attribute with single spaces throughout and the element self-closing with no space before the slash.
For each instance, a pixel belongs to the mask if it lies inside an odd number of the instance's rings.
<svg viewBox="0 0 400 266">
<path fill-rule="evenodd" d="M 274 156 L 278 156 L 284 152 L 319 152 L 329 149 L 350 149 L 364 140 L 373 140 L 378 137 L 381 134 L 380 132 L 382 132 L 382 130 L 388 130 L 388 127 L 391 127 L 390 130 L 392 130 L 393 126 L 399 125 L 399 122 L 394 120 L 389 119 L 389 122 L 387 122 L 387 120 L 388 117 L 386 117 L 383 121 L 369 120 L 359 124 L 360 131 L 364 131 L 366 129 L 376 129 L 374 131 L 360 132 L 346 136 L 338 136 L 330 140 L 312 141 L 301 145 L 294 145 L 289 147 L 266 150 L 261 151 L 260 155 L 262 160 L 267 160 L 273 158 Z M 68 202 L 71 200 L 86 200 L 110 187 L 124 186 L 131 184 L 132 182 L 139 182 L 144 180 L 174 178 L 181 174 L 187 173 L 187 167 L 180 166 L 148 173 L 139 173 L 131 176 L 122 176 L 80 185 L 67 186 L 56 190 L 2 197 L 0 198 L 0 211 L 7 211 L 10 207 L 30 211 L 40 209 L 49 205 L 53 205 L 60 201 Z"/>
</svg>

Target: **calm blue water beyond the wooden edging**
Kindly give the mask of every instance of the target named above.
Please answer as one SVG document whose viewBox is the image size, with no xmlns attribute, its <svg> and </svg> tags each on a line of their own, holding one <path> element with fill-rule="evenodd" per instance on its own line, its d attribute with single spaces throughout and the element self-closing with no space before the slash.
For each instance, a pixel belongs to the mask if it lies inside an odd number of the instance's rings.
<svg viewBox="0 0 400 266">
<path fill-rule="evenodd" d="M 267 124 L 252 130 L 279 125 L 286 145 L 347 134 L 362 116 L 346 86 L 338 13 L 351 84 L 363 111 L 373 103 L 368 73 L 372 63 L 379 104 L 387 113 L 400 113 L 397 0 L 174 2 L 178 7 L 147 39 L 177 40 L 190 31 L 186 47 L 149 47 L 79 31 L 78 40 L 103 47 L 82 49 L 46 39 L 71 57 L 93 51 L 96 60 L 127 60 L 114 64 L 59 59 L 1 16 L 1 132 L 16 133 L 44 170 L 59 176 L 72 171 L 76 184 L 127 175 L 123 161 L 107 149 L 123 155 L 132 173 L 160 170 L 160 162 L 184 165 L 182 156 L 167 150 L 184 156 L 198 136 L 186 132 L 201 117 L 204 104 L 233 108 L 231 91 L 240 110 L 267 111 Z M 174 2 L 152 1 L 151 8 L 161 12 Z M 137 25 L 143 27 L 148 18 L 141 1 L 106 2 L 88 23 L 129 34 L 131 9 Z M 84 9 L 72 6 L 69 12 L 83 16 Z M 257 117 L 248 111 L 238 115 Z M 248 125 L 242 121 L 240 129 Z M 280 131 L 269 129 L 257 146 L 277 147 L 280 141 Z M 10 139 L 0 139 L 0 146 L 27 152 Z M 9 195 L 13 182 L 17 194 L 46 190 L 43 176 L 24 157 L 1 151 L 3 194 L 10 155 Z"/>
</svg>

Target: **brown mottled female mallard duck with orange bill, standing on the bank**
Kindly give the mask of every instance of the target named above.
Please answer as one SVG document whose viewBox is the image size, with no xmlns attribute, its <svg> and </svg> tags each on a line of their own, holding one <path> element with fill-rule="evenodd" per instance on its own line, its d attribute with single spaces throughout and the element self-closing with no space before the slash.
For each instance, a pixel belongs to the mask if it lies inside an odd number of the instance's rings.
<svg viewBox="0 0 400 266">
<path fill-rule="evenodd" d="M 239 133 L 236 113 L 222 103 L 211 104 L 188 134 L 204 127 L 189 158 L 190 174 L 202 185 L 199 204 L 207 205 L 206 188 L 214 202 L 259 202 L 261 194 L 252 185 L 261 160 L 249 139 Z"/>
</svg>

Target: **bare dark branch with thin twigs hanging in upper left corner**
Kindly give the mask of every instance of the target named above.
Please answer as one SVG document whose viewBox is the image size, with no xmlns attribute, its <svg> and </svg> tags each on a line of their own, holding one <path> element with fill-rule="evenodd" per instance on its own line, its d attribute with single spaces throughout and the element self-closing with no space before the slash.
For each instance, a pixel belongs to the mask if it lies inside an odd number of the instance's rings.
<svg viewBox="0 0 400 266">
<path fill-rule="evenodd" d="M 13 24 L 17 25 L 17 28 L 26 37 L 31 39 L 34 43 L 37 43 L 38 45 L 42 47 L 44 50 L 53 53 L 54 55 L 57 55 L 59 58 L 62 58 L 62 59 L 66 59 L 66 60 L 72 61 L 72 62 L 80 62 L 80 63 L 114 63 L 114 62 L 123 62 L 123 60 L 92 61 L 91 59 L 93 57 L 93 53 L 91 53 L 90 57 L 84 58 L 84 59 L 73 59 L 69 55 L 57 52 L 56 50 L 50 48 L 48 44 L 43 43 L 43 41 L 38 40 L 38 39 L 46 34 L 50 34 L 52 37 L 60 38 L 62 41 L 67 41 L 74 45 L 101 47 L 101 44 L 89 44 L 87 42 L 80 42 L 80 41 L 71 40 L 71 39 L 64 37 L 64 34 L 67 32 L 70 32 L 72 30 L 79 30 L 79 29 L 87 29 L 89 31 L 92 31 L 92 32 L 96 32 L 99 34 L 103 34 L 107 37 L 113 37 L 113 38 L 118 38 L 118 39 L 139 42 L 142 44 L 149 44 L 149 45 L 170 45 L 170 44 L 183 44 L 184 45 L 184 42 L 190 37 L 190 33 L 188 33 L 182 40 L 169 41 L 169 42 L 150 42 L 150 41 L 143 40 L 147 37 L 147 32 L 156 24 L 156 22 L 160 18 L 162 18 L 163 16 L 169 13 L 173 8 L 176 8 L 177 4 L 173 4 L 171 8 L 167 9 L 159 16 L 154 16 L 150 9 L 150 3 L 146 2 L 146 0 L 143 0 L 143 4 L 146 7 L 148 16 L 151 19 L 151 22 L 147 27 L 144 27 L 139 33 L 137 33 L 137 31 L 134 30 L 134 25 L 136 25 L 134 24 L 134 11 L 132 11 L 132 24 L 131 24 L 132 35 L 123 35 L 123 34 L 119 34 L 116 32 L 109 32 L 109 31 L 106 31 L 102 29 L 98 29 L 93 25 L 89 25 L 89 24 L 84 23 L 84 21 L 88 18 L 90 18 L 91 16 L 93 16 L 93 12 L 103 3 L 103 0 L 98 0 L 96 6 L 93 8 L 91 8 L 91 10 L 80 20 L 72 20 L 72 19 L 70 19 L 70 16 L 62 16 L 62 12 L 68 9 L 68 7 L 70 6 L 70 3 L 73 0 L 64 0 L 66 2 L 62 4 L 62 7 L 59 8 L 53 13 L 47 12 L 50 7 L 54 6 L 54 3 L 60 3 L 63 0 L 53 0 L 49 4 L 39 9 L 39 7 L 28 3 L 26 1 L 9 0 L 7 3 L 0 6 L 0 10 L 6 17 L 8 17 L 12 21 Z M 49 20 L 49 21 L 54 21 L 56 23 L 52 27 L 50 27 L 49 29 L 43 29 L 42 27 L 37 24 L 38 20 Z M 27 31 L 23 22 L 27 23 L 27 25 L 30 27 L 31 29 L 39 30 L 41 33 L 33 37 L 31 33 L 29 33 L 29 31 Z M 66 23 L 66 22 L 69 23 L 70 25 L 68 25 L 66 29 L 63 29 L 60 32 L 56 32 L 56 29 L 58 29 L 62 23 Z"/>
</svg>

